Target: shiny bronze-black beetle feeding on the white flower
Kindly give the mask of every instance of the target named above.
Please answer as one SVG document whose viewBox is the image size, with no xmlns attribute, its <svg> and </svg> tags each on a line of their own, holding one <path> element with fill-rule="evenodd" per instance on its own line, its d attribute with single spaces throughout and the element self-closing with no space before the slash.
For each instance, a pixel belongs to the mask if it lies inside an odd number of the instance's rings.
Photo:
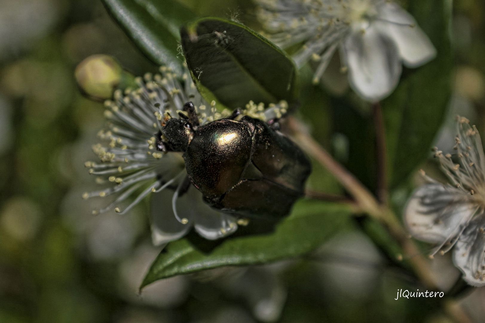
<svg viewBox="0 0 485 323">
<path fill-rule="evenodd" d="M 189 117 L 168 119 L 157 149 L 183 152 L 187 174 L 206 203 L 244 217 L 279 218 L 304 194 L 311 165 L 305 154 L 266 122 L 248 116 L 198 125 Z"/>
</svg>

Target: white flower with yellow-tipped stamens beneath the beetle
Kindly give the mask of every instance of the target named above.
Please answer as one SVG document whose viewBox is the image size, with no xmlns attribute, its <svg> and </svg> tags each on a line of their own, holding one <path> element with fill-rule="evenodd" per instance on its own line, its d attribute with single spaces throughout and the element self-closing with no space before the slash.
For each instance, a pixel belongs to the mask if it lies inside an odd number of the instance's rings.
<svg viewBox="0 0 485 323">
<path fill-rule="evenodd" d="M 227 109 L 217 112 L 216 102 L 207 103 L 187 73 L 179 77 L 166 67 L 160 68 L 160 72 L 137 78 L 138 89 L 127 89 L 125 95 L 116 90 L 114 101 L 105 102 L 105 117 L 109 121 L 107 129 L 98 136 L 107 144 L 94 145 L 101 162 L 88 161 L 85 166 L 91 174 L 99 176 L 99 184 L 109 187 L 86 192 L 83 198 L 115 195 L 111 204 L 93 213 L 114 208 L 123 214 L 153 193 L 150 220 L 155 245 L 181 238 L 192 227 L 207 239 L 225 237 L 236 231 L 238 223 L 246 221 L 205 204 L 202 194 L 188 179 L 182 153 L 157 150 L 161 141 L 157 137 L 162 139 L 162 120 L 169 118 L 168 114 L 178 116 L 186 102 L 193 102 L 200 125 L 225 118 L 231 112 Z M 285 112 L 285 103 L 271 104 L 264 110 L 263 105 L 250 102 L 243 114 L 260 119 L 279 118 Z M 136 197 L 121 210 L 117 205 L 130 195 Z"/>
</svg>

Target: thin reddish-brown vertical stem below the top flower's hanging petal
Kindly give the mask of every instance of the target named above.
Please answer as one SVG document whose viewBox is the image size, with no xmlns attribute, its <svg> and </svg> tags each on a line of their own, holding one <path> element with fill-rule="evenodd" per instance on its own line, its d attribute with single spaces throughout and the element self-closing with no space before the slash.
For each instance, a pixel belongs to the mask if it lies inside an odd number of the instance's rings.
<svg viewBox="0 0 485 323">
<path fill-rule="evenodd" d="M 386 205 L 388 201 L 386 133 L 382 108 L 379 102 L 372 104 L 372 119 L 374 121 L 377 157 L 377 198 L 381 204 Z"/>
</svg>

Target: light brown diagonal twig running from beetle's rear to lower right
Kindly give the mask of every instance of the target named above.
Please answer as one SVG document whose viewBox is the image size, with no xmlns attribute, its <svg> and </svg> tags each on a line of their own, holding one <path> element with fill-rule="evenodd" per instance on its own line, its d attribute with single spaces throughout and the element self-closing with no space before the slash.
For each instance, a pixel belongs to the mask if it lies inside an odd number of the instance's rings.
<svg viewBox="0 0 485 323">
<path fill-rule="evenodd" d="M 397 240 L 404 251 L 406 258 L 411 262 L 421 282 L 428 288 L 436 289 L 435 279 L 430 271 L 429 263 L 420 254 L 419 249 L 408 237 L 408 234 L 394 213 L 385 206 L 379 205 L 372 193 L 364 187 L 349 171 L 342 167 L 332 156 L 327 153 L 318 142 L 315 141 L 305 130 L 304 126 L 295 118 L 287 119 L 288 130 L 294 142 L 305 152 L 320 162 L 329 170 L 352 195 L 356 204 L 363 212 L 367 212 L 373 218 L 382 221 L 389 233 Z"/>
</svg>

